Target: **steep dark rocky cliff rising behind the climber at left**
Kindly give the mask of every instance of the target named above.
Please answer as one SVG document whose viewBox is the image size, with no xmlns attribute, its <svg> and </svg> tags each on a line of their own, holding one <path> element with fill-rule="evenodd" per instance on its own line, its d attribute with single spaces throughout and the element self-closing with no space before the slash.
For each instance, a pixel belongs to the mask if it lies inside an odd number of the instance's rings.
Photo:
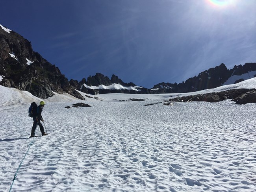
<svg viewBox="0 0 256 192">
<path fill-rule="evenodd" d="M 72 89 L 58 67 L 34 52 L 31 43 L 14 31 L 0 27 L 0 85 L 26 90 L 39 98 L 67 92 L 77 98 L 82 95 Z"/>
</svg>

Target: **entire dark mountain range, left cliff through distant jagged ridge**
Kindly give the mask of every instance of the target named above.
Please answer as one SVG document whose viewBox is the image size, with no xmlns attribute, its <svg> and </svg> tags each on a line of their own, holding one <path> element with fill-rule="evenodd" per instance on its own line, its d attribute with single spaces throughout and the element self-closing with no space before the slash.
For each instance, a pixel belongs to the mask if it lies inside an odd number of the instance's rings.
<svg viewBox="0 0 256 192">
<path fill-rule="evenodd" d="M 15 31 L 0 25 L 0 85 L 26 90 L 40 98 L 48 98 L 57 93 L 68 93 L 83 99 L 76 90 L 89 94 L 133 93 L 159 94 L 183 93 L 211 89 L 221 85 L 234 84 L 256 77 L 256 63 L 234 66 L 228 70 L 222 63 L 215 68 L 200 72 L 182 83 L 158 83 L 152 89 L 135 85 L 133 82 L 124 83 L 118 76 L 111 79 L 104 74 L 77 79 L 68 79 L 55 65 L 45 60 L 39 53 L 34 52 L 31 42 L 24 39 Z"/>
</svg>

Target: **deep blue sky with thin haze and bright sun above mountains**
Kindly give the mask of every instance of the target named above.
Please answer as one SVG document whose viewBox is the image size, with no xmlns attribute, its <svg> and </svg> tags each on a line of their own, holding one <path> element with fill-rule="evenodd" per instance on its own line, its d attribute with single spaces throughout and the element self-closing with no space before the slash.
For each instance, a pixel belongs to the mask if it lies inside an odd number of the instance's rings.
<svg viewBox="0 0 256 192">
<path fill-rule="evenodd" d="M 69 80 L 152 88 L 256 62 L 256 0 L 1 0 L 0 24 Z"/>
</svg>

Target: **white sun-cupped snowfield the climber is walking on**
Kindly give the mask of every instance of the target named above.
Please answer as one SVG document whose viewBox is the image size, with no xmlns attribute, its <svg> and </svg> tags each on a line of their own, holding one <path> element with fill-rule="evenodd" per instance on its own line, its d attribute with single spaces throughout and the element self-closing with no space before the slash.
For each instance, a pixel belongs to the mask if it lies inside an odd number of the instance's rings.
<svg viewBox="0 0 256 192">
<path fill-rule="evenodd" d="M 193 94 L 237 87 L 256 78 Z M 0 86 L 0 191 L 31 142 L 11 191 L 256 191 L 256 103 L 144 106 L 173 96 L 55 93 L 43 110 L 49 137 L 28 138 L 28 107 L 41 99 Z M 92 107 L 64 108 L 77 102 Z"/>
</svg>

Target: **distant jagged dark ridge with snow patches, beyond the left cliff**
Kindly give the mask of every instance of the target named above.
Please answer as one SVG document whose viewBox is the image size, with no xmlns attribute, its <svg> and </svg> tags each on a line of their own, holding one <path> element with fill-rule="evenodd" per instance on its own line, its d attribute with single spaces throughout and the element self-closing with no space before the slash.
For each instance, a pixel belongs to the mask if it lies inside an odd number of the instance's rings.
<svg viewBox="0 0 256 192">
<path fill-rule="evenodd" d="M 182 83 L 159 83 L 152 89 L 138 87 L 134 83 L 124 83 L 117 76 L 113 75 L 111 80 L 97 73 L 95 76 L 89 76 L 87 81 L 83 79 L 78 85 L 80 90 L 88 94 L 105 93 L 133 93 L 133 94 L 161 94 L 161 93 L 184 93 L 195 92 L 198 90 L 212 89 L 222 85 L 234 84 L 249 78 L 256 77 L 256 63 L 246 63 L 245 65 L 234 66 L 228 70 L 222 63 L 215 68 L 210 68 L 198 74 L 193 78 L 187 79 Z M 113 83 L 120 84 L 126 89 L 100 89 L 100 85 L 109 86 Z M 87 85 L 87 86 L 86 86 Z M 95 86 L 95 87 L 90 87 Z M 136 87 L 137 90 L 129 90 L 128 87 Z"/>
</svg>

